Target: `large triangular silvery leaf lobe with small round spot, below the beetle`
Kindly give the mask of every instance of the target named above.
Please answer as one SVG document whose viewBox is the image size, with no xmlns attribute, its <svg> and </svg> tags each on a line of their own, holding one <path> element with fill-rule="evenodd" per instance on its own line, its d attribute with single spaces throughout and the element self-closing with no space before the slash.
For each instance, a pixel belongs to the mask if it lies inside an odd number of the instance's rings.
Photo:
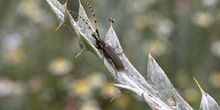
<svg viewBox="0 0 220 110">
<path fill-rule="evenodd" d="M 175 90 L 166 74 L 151 54 L 148 55 L 147 68 L 147 81 L 154 89 L 154 91 L 151 91 L 151 94 L 155 94 L 169 107 L 169 110 L 193 110 Z"/>
</svg>

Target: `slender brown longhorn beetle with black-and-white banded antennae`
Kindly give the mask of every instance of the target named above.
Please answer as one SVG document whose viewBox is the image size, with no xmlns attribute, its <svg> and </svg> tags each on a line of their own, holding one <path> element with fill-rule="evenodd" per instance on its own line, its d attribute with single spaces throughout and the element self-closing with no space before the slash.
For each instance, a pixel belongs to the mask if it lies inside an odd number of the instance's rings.
<svg viewBox="0 0 220 110">
<path fill-rule="evenodd" d="M 90 5 L 87 1 L 84 1 L 84 3 L 86 3 L 86 4 L 89 6 L 89 8 L 90 8 L 90 10 L 91 10 L 91 12 L 92 12 L 92 14 L 93 14 L 93 17 L 95 18 L 95 13 L 94 13 L 94 11 L 93 11 L 91 5 Z M 73 12 L 73 11 L 71 11 L 71 10 L 69 10 L 69 11 L 72 12 L 73 14 L 78 15 L 77 13 L 75 13 L 75 12 Z M 89 26 L 88 22 L 86 22 L 86 20 L 85 20 L 84 18 L 82 18 L 80 15 L 78 15 L 78 16 L 79 16 L 79 18 L 81 18 L 81 19 L 85 22 L 86 25 L 88 25 L 89 30 L 92 32 L 92 36 L 93 36 L 94 39 L 96 40 L 96 45 L 95 45 L 96 48 L 99 49 L 99 50 L 101 50 L 101 53 L 104 55 L 104 57 L 105 57 L 106 59 L 110 59 L 110 60 L 111 60 L 113 66 L 114 66 L 118 71 L 124 70 L 125 67 L 124 67 L 124 65 L 123 65 L 123 62 L 122 62 L 121 59 L 119 58 L 118 54 L 115 52 L 115 50 L 114 50 L 110 45 L 106 44 L 106 43 L 100 38 L 100 36 L 99 36 L 99 31 L 98 31 L 97 27 L 96 27 L 96 29 L 95 29 L 95 32 L 93 32 L 92 29 L 91 29 L 91 27 Z M 109 21 L 110 21 L 111 24 L 114 23 L 114 20 L 113 20 L 113 19 L 109 19 Z M 95 21 L 94 21 L 94 22 L 95 22 L 95 25 L 96 25 L 96 23 L 97 23 L 96 18 L 95 18 Z"/>
</svg>

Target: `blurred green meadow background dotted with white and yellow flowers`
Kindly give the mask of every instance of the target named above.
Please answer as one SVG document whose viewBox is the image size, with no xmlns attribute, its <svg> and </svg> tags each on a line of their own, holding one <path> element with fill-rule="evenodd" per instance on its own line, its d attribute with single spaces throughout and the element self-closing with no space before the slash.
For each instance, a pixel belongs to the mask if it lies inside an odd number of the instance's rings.
<svg viewBox="0 0 220 110">
<path fill-rule="evenodd" d="M 64 0 L 60 0 L 64 3 Z M 180 95 L 199 108 L 203 89 L 220 103 L 218 0 L 88 0 L 102 38 L 114 29 L 124 53 L 143 76 L 151 52 Z M 88 6 L 91 20 L 94 18 Z M 78 1 L 68 8 L 78 10 Z M 1 110 L 146 110 L 141 98 L 119 91 L 91 52 L 74 58 L 77 36 L 59 25 L 45 0 L 0 1 Z M 148 108 L 149 109 L 149 108 Z"/>
</svg>

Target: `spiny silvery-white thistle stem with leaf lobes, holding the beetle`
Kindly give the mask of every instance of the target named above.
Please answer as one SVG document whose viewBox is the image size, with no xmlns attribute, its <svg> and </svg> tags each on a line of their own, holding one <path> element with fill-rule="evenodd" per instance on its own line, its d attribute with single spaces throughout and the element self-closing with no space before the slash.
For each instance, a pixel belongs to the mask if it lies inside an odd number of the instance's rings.
<svg viewBox="0 0 220 110">
<path fill-rule="evenodd" d="M 81 47 L 93 52 L 100 58 L 100 61 L 104 62 L 117 82 L 114 86 L 122 91 L 130 91 L 143 97 L 144 101 L 154 110 L 193 110 L 178 94 L 164 71 L 150 54 L 148 56 L 147 80 L 145 80 L 123 53 L 118 37 L 111 25 L 104 42 L 115 48 L 125 66 L 124 70 L 117 71 L 114 65 L 96 48 L 96 41 L 92 37 L 92 33 L 95 31 L 80 0 L 77 22 L 67 10 L 66 3 L 61 5 L 57 0 L 47 0 L 47 2 L 55 12 L 59 22 L 61 24 L 69 23 L 67 26 L 70 26 L 77 33 Z M 91 27 L 91 30 L 88 27 Z"/>
</svg>

